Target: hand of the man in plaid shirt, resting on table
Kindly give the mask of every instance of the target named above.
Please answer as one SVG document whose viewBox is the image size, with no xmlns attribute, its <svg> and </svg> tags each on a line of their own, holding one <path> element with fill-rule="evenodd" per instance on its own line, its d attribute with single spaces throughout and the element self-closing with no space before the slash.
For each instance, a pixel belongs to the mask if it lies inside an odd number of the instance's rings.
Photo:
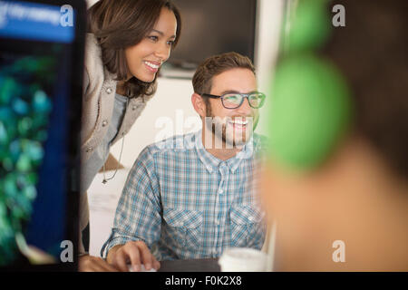
<svg viewBox="0 0 408 290">
<path fill-rule="evenodd" d="M 160 263 L 151 255 L 149 247 L 142 241 L 131 241 L 125 245 L 112 247 L 108 253 L 108 262 L 123 272 L 129 271 L 127 266 L 129 263 L 134 271 L 140 271 L 141 264 L 147 271 L 151 270 L 151 267 L 156 270 L 160 268 Z"/>
</svg>

